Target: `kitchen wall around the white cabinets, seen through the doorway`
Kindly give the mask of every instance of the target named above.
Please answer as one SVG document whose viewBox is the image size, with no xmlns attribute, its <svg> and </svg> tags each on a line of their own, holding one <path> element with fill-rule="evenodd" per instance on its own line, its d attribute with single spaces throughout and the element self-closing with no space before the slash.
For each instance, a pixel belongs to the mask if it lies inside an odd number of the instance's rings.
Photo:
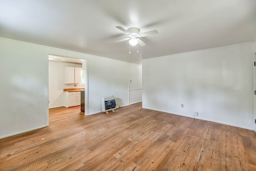
<svg viewBox="0 0 256 171">
<path fill-rule="evenodd" d="M 84 86 L 76 84 L 65 84 L 65 67 L 82 68 L 82 64 L 74 64 L 69 62 L 49 61 L 49 108 L 64 106 L 64 91 L 68 88 L 84 88 Z"/>
</svg>

